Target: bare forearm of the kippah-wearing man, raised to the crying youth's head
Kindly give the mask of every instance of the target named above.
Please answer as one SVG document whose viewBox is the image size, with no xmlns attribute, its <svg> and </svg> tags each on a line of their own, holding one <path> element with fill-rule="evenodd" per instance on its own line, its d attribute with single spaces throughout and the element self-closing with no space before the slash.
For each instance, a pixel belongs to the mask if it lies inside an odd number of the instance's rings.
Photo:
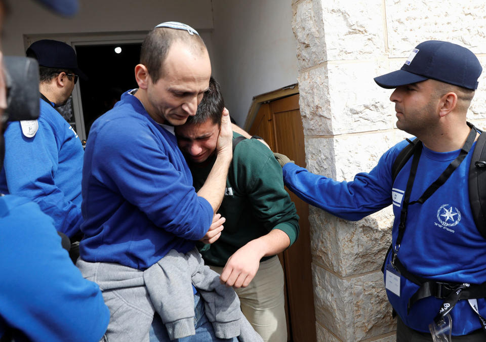
<svg viewBox="0 0 486 342">
<path fill-rule="evenodd" d="M 229 153 L 219 153 L 206 182 L 197 192 L 198 196 L 205 198 L 211 204 L 214 213 L 218 211 L 223 201 L 231 158 L 231 151 Z"/>
</svg>

